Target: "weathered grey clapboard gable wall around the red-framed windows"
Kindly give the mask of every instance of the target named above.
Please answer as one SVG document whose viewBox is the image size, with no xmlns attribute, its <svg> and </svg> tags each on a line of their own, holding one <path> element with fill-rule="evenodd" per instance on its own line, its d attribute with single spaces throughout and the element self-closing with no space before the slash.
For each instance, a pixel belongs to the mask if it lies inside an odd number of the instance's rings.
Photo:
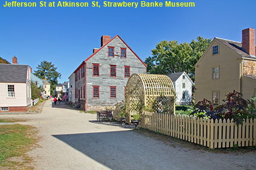
<svg viewBox="0 0 256 170">
<path fill-rule="evenodd" d="M 126 58 L 118 56 L 108 57 L 108 46 L 114 47 L 114 53 L 120 54 L 120 48 L 126 48 Z M 93 64 L 99 64 L 99 77 L 92 76 Z M 110 65 L 116 65 L 116 77 L 110 77 Z M 87 106 L 115 105 L 125 100 L 124 87 L 128 78 L 124 77 L 125 66 L 130 66 L 130 75 L 133 73 L 146 73 L 145 65 L 134 55 L 133 52 L 120 40 L 114 38 L 107 46 L 99 50 L 87 61 Z M 99 86 L 99 99 L 93 99 L 93 86 Z M 116 99 L 110 99 L 110 87 L 117 90 Z"/>
</svg>

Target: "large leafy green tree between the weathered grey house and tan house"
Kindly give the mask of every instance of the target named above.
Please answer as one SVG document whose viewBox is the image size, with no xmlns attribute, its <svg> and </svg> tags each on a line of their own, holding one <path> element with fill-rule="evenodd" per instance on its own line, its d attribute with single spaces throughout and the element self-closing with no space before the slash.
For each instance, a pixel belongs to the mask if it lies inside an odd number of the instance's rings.
<svg viewBox="0 0 256 170">
<path fill-rule="evenodd" d="M 197 37 L 191 43 L 178 41 L 161 41 L 152 50 L 152 56 L 145 59 L 148 73 L 169 74 L 186 71 L 192 80 L 195 79 L 195 64 L 207 49 L 211 39 Z"/>
</svg>

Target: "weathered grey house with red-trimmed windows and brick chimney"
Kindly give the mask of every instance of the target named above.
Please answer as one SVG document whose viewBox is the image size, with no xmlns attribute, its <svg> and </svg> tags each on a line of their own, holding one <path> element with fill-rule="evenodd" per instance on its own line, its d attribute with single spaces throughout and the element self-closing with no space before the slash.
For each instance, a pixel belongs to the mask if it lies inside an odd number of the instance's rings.
<svg viewBox="0 0 256 170">
<path fill-rule="evenodd" d="M 133 73 L 146 73 L 146 64 L 119 35 L 102 35 L 101 47 L 74 73 L 75 102 L 86 111 L 103 110 L 125 100 L 127 80 Z"/>
</svg>

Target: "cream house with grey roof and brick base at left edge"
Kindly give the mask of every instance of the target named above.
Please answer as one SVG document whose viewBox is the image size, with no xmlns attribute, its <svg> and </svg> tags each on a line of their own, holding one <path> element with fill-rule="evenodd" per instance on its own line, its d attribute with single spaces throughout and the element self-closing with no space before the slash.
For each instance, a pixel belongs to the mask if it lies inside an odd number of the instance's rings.
<svg viewBox="0 0 256 170">
<path fill-rule="evenodd" d="M 31 106 L 30 66 L 0 64 L 0 113 L 26 112 Z"/>
</svg>

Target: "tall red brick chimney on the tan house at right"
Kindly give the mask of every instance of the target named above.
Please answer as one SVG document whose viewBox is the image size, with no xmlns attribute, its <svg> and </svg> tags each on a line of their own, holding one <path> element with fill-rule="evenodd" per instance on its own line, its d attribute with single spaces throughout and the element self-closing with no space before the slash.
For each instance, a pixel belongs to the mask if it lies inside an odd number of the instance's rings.
<svg viewBox="0 0 256 170">
<path fill-rule="evenodd" d="M 242 47 L 249 55 L 255 56 L 255 29 L 243 29 Z"/>
</svg>

